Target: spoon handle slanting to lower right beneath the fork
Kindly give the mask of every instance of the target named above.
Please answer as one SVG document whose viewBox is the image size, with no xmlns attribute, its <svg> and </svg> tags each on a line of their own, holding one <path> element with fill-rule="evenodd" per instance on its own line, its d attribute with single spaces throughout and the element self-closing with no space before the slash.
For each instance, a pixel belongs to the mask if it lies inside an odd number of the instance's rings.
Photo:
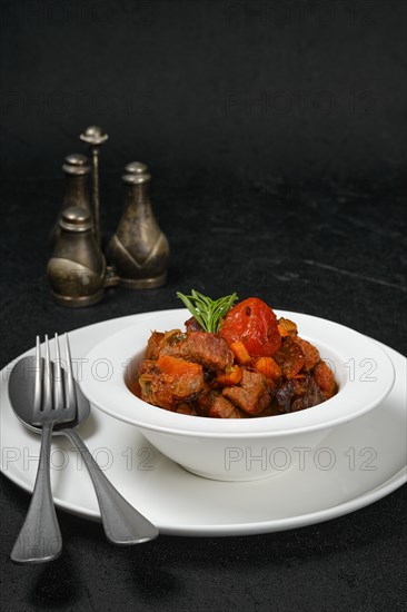
<svg viewBox="0 0 407 612">
<path fill-rule="evenodd" d="M 158 529 L 120 495 L 77 432 L 71 428 L 62 431 L 85 460 L 98 497 L 107 539 L 113 544 L 128 545 L 140 544 L 157 537 Z"/>
</svg>

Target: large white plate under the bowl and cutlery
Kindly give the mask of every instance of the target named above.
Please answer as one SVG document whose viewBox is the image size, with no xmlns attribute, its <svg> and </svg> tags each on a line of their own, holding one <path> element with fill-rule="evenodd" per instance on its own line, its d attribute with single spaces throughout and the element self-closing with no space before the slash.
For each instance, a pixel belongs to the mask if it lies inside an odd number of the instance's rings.
<svg viewBox="0 0 407 612">
<path fill-rule="evenodd" d="M 77 374 L 100 338 L 132 325 L 137 316 L 71 332 Z M 161 533 L 240 535 L 319 523 L 371 504 L 406 482 L 406 359 L 381 347 L 396 369 L 395 386 L 385 402 L 366 416 L 336 427 L 324 446 L 312 453 L 302 451 L 299 465 L 271 478 L 246 483 L 200 478 L 155 451 L 133 426 L 97 409 L 80 433 L 111 482 Z M 10 406 L 7 379 L 16 361 L 1 372 L 0 467 L 31 492 L 39 436 L 21 425 Z M 90 477 L 68 440 L 53 438 L 51 460 L 57 505 L 98 520 Z M 284 460 L 281 466 L 287 465 Z"/>
</svg>

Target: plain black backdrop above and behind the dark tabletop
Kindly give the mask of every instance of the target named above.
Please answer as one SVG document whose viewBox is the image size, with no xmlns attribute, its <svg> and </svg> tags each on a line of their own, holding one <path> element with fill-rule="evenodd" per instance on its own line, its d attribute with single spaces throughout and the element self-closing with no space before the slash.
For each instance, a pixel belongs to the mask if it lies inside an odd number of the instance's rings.
<svg viewBox="0 0 407 612">
<path fill-rule="evenodd" d="M 1 171 L 57 177 L 89 124 L 140 159 L 242 180 L 399 189 L 406 3 L 4 1 Z"/>
</svg>

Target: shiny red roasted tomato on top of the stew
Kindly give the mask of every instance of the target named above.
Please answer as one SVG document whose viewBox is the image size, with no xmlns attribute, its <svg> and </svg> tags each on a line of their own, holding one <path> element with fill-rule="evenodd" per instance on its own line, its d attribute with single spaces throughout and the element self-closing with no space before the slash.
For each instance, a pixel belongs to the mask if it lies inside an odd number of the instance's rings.
<svg viewBox="0 0 407 612">
<path fill-rule="evenodd" d="M 275 313 L 257 297 L 234 306 L 226 315 L 219 335 L 229 346 L 242 342 L 251 357 L 271 357 L 281 345 Z"/>
</svg>

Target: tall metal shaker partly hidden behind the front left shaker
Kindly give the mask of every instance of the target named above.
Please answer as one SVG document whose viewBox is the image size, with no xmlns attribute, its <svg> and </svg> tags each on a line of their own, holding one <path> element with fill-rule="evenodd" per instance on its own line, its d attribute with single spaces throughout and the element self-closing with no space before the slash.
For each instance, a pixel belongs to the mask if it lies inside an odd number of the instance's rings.
<svg viewBox="0 0 407 612">
<path fill-rule="evenodd" d="M 61 213 L 71 206 L 80 206 L 91 214 L 93 224 L 92 205 L 89 196 L 90 164 L 88 157 L 81 154 L 68 155 L 64 158 L 62 170 L 64 172 L 66 186 Z M 51 245 L 54 244 L 60 234 L 60 217 L 61 214 L 58 216 L 51 231 Z"/>
</svg>

